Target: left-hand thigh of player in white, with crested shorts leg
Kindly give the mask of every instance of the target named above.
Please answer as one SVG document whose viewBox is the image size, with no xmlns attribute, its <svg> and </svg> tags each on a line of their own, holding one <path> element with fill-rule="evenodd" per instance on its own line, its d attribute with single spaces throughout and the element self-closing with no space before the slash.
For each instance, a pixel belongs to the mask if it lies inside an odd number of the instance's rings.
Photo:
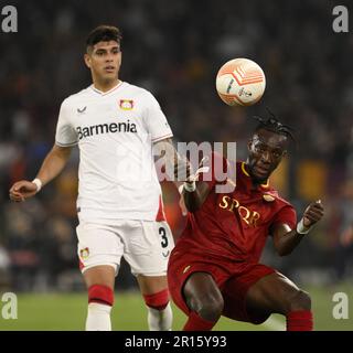
<svg viewBox="0 0 353 353">
<path fill-rule="evenodd" d="M 111 284 L 118 271 L 124 244 L 110 226 L 81 223 L 77 228 L 77 255 L 86 282 Z"/>
</svg>

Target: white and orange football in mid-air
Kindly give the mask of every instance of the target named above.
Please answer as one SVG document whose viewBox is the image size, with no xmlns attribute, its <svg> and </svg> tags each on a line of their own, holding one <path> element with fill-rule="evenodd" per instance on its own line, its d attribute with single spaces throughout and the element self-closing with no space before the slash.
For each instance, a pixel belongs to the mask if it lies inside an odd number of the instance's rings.
<svg viewBox="0 0 353 353">
<path fill-rule="evenodd" d="M 216 89 L 228 106 L 252 106 L 264 95 L 266 78 L 263 68 L 249 58 L 234 58 L 218 71 Z"/>
</svg>

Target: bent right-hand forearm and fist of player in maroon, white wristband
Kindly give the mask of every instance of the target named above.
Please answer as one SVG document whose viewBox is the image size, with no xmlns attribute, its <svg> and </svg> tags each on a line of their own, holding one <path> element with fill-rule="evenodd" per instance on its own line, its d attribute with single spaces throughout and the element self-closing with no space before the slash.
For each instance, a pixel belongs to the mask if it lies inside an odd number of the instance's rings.
<svg viewBox="0 0 353 353">
<path fill-rule="evenodd" d="M 323 205 L 318 200 L 307 207 L 295 229 L 290 229 L 287 224 L 276 225 L 272 229 L 272 235 L 277 253 L 280 256 L 289 255 L 313 225 L 322 218 L 323 211 Z"/>
</svg>

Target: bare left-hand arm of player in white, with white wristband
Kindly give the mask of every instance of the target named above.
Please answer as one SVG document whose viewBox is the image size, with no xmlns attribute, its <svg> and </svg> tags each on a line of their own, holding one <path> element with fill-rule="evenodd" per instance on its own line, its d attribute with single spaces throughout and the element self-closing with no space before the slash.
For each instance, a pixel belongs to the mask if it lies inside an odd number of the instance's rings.
<svg viewBox="0 0 353 353">
<path fill-rule="evenodd" d="M 64 169 L 69 159 L 71 150 L 71 147 L 54 145 L 52 150 L 46 154 L 34 181 L 21 180 L 15 182 L 10 189 L 10 199 L 21 202 L 34 196 L 42 186 L 47 184 Z"/>
</svg>

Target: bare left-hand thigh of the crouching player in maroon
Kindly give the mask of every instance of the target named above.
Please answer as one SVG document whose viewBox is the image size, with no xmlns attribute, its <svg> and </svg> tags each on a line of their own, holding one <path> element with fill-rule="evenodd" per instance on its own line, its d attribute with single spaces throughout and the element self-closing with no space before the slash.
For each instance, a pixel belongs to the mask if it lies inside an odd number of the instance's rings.
<svg viewBox="0 0 353 353">
<path fill-rule="evenodd" d="M 197 311 L 200 307 L 211 303 L 223 306 L 221 290 L 212 275 L 207 272 L 193 272 L 190 275 L 182 288 L 182 295 L 191 310 Z"/>
</svg>

